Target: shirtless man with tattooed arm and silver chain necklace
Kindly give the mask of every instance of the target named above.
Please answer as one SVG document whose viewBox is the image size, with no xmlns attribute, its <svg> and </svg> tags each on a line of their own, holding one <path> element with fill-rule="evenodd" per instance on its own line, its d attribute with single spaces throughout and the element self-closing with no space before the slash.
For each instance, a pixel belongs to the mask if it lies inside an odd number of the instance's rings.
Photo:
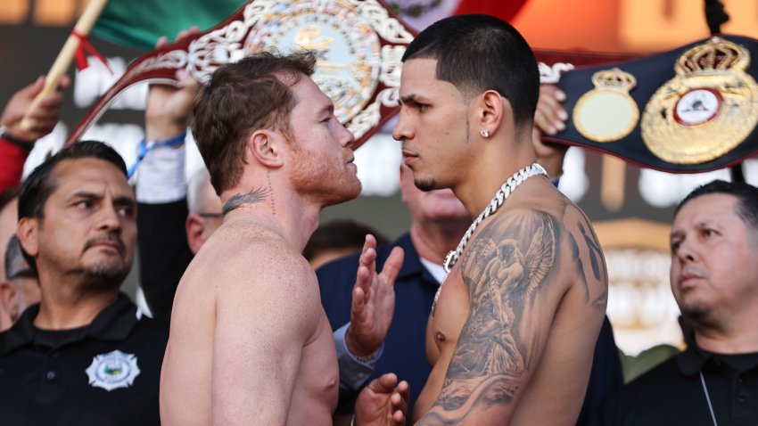
<svg viewBox="0 0 758 426">
<path fill-rule="evenodd" d="M 529 45 L 502 20 L 458 15 L 403 55 L 393 131 L 422 190 L 477 217 L 446 259 L 427 327 L 418 424 L 573 424 L 606 310 L 588 218 L 536 164 L 540 92 Z"/>
</svg>

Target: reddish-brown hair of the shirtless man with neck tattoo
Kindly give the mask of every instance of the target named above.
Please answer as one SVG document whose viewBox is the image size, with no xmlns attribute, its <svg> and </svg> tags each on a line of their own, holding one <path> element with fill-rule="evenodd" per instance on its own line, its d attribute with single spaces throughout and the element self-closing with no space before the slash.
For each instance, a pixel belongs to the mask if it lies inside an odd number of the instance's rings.
<svg viewBox="0 0 758 426">
<path fill-rule="evenodd" d="M 313 53 L 256 53 L 216 70 L 194 103 L 193 135 L 217 194 L 240 180 L 255 130 L 290 135 L 291 86 L 316 65 Z M 284 78 L 284 79 L 283 79 Z"/>
</svg>

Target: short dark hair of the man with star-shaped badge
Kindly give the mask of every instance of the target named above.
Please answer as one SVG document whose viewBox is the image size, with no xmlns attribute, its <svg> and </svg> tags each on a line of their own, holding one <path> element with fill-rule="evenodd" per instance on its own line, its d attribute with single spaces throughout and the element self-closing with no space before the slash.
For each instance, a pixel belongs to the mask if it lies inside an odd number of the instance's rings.
<svg viewBox="0 0 758 426">
<path fill-rule="evenodd" d="M 118 152 L 105 143 L 81 141 L 72 143 L 35 168 L 21 185 L 19 219 L 43 217 L 45 201 L 57 187 L 53 170 L 63 160 L 96 159 L 108 161 L 127 176 L 127 165 Z"/>
</svg>

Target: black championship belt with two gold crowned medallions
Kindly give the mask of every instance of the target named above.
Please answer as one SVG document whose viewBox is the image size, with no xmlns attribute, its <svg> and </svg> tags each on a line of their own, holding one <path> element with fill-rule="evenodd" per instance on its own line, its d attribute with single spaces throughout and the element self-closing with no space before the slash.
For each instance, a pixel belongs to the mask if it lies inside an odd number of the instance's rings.
<svg viewBox="0 0 758 426">
<path fill-rule="evenodd" d="M 567 71 L 558 86 L 571 118 L 564 131 L 545 139 L 673 173 L 732 166 L 758 152 L 752 58 L 758 58 L 758 41 L 720 36 Z"/>
</svg>

